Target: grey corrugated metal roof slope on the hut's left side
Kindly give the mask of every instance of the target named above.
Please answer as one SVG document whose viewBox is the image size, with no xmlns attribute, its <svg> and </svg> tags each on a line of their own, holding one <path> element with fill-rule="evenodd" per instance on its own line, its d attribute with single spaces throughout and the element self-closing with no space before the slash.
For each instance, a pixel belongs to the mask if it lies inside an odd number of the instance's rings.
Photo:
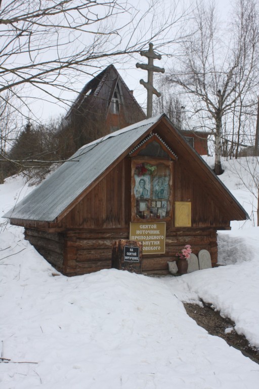
<svg viewBox="0 0 259 389">
<path fill-rule="evenodd" d="M 118 130 L 81 147 L 4 217 L 54 221 L 127 148 L 163 115 Z"/>
</svg>

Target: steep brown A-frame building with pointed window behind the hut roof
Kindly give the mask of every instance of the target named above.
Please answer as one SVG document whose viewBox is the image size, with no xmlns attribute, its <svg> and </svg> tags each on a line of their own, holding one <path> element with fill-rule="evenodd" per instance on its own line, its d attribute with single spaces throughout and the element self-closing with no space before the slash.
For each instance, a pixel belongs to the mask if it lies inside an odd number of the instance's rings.
<svg viewBox="0 0 259 389">
<path fill-rule="evenodd" d="M 58 138 L 61 155 L 146 118 L 114 67 L 109 65 L 87 83 L 63 120 Z"/>
</svg>

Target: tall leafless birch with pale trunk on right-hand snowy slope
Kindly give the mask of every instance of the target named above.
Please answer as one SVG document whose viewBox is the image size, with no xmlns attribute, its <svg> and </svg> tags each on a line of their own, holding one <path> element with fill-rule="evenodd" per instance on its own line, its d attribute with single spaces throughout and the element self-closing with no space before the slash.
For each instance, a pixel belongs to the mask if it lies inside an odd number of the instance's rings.
<svg viewBox="0 0 259 389">
<path fill-rule="evenodd" d="M 245 108 L 250 91 L 258 86 L 258 23 L 255 0 L 236 0 L 231 30 L 217 20 L 215 7 L 199 4 L 193 34 L 182 44 L 167 83 L 180 86 L 195 113 L 214 133 L 216 174 L 222 174 L 222 123 L 233 110 Z M 250 103 L 250 102 L 249 102 Z M 240 114 L 238 118 L 240 119 Z"/>
</svg>

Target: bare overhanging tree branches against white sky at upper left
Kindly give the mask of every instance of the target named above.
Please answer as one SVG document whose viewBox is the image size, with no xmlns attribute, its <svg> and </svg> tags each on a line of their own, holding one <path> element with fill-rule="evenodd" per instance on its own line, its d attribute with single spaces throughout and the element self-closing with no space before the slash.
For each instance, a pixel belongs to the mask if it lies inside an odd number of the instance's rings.
<svg viewBox="0 0 259 389">
<path fill-rule="evenodd" d="M 109 58 L 134 55 L 150 40 L 161 49 L 176 39 L 171 28 L 185 17 L 175 3 L 162 13 L 162 3 L 153 0 L 141 13 L 127 0 L 3 0 L 0 92 L 28 103 L 33 87 L 33 99 L 42 92 L 58 102 L 62 91 L 74 91 L 80 74 L 92 76 L 102 61 L 107 66 Z"/>
</svg>

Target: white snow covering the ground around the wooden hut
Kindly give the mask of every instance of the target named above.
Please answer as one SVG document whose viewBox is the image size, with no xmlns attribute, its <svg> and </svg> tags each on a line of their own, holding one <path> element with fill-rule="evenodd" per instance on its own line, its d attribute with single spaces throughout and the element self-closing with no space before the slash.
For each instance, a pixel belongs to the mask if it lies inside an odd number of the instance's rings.
<svg viewBox="0 0 259 389">
<path fill-rule="evenodd" d="M 259 347 L 256 190 L 235 166 L 225 162 L 221 179 L 252 218 L 219 231 L 218 268 L 176 278 L 115 269 L 53 277 L 23 229 L 2 226 L 1 389 L 257 389 L 259 366 L 208 335 L 182 304 L 212 303 Z M 29 190 L 21 177 L 0 185 L 0 212 Z"/>
</svg>

